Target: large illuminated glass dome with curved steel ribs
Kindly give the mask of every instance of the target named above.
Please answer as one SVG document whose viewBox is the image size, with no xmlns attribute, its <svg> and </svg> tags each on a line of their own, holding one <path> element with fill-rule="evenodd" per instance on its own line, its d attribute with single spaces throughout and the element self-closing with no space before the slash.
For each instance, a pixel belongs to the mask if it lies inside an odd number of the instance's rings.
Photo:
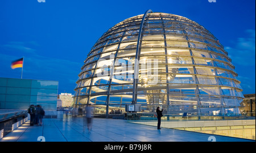
<svg viewBox="0 0 256 153">
<path fill-rule="evenodd" d="M 207 29 L 148 10 L 98 39 L 81 67 L 74 100 L 77 107 L 94 104 L 96 113 L 124 112 L 133 103 L 142 112 L 160 106 L 166 113 L 239 114 L 236 77 L 228 53 Z"/>
</svg>

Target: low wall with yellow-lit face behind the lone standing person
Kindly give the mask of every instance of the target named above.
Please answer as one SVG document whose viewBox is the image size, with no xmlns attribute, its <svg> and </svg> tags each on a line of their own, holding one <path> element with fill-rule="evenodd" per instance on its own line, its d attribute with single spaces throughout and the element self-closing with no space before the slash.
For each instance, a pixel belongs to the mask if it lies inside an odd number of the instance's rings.
<svg viewBox="0 0 256 153">
<path fill-rule="evenodd" d="M 254 116 L 253 116 L 254 115 Z M 127 122 L 157 126 L 156 113 L 127 113 Z M 164 114 L 161 127 L 255 140 L 255 114 Z"/>
</svg>

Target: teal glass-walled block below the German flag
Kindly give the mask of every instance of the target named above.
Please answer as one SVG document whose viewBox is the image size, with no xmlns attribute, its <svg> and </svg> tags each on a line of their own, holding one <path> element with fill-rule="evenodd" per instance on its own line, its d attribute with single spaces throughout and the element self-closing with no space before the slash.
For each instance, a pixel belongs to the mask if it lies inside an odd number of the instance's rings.
<svg viewBox="0 0 256 153">
<path fill-rule="evenodd" d="M 0 78 L 0 109 L 27 109 L 41 105 L 56 110 L 58 81 Z"/>
</svg>

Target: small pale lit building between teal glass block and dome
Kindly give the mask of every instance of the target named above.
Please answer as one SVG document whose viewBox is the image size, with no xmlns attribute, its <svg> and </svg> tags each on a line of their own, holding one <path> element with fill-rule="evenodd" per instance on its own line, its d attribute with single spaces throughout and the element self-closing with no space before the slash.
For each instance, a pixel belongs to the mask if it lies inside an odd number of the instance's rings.
<svg viewBox="0 0 256 153">
<path fill-rule="evenodd" d="M 72 107 L 73 105 L 73 95 L 68 93 L 61 93 L 58 95 L 57 107 Z"/>
</svg>

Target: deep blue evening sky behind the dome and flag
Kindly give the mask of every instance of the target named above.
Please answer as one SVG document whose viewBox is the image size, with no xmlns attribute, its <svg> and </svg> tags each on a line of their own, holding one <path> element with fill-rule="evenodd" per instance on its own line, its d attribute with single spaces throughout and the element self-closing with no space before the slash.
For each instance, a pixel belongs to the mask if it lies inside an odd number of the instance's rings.
<svg viewBox="0 0 256 153">
<path fill-rule="evenodd" d="M 189 18 L 213 33 L 232 58 L 243 94 L 255 93 L 255 0 L 1 0 L 0 77 L 58 80 L 74 94 L 94 43 L 113 25 L 148 9 Z"/>
</svg>

